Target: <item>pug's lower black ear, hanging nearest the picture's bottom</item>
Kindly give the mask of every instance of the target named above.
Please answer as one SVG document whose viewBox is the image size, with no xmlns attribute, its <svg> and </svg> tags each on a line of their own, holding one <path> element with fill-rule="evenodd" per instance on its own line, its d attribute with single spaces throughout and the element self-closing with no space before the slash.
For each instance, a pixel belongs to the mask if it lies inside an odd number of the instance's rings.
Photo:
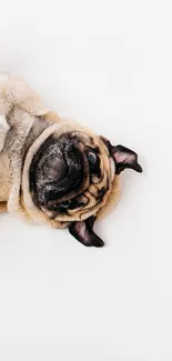
<svg viewBox="0 0 172 361">
<path fill-rule="evenodd" d="M 94 221 L 95 217 L 92 215 L 84 221 L 72 222 L 69 231 L 79 242 L 87 247 L 103 247 L 104 242 L 93 231 Z"/>
</svg>

